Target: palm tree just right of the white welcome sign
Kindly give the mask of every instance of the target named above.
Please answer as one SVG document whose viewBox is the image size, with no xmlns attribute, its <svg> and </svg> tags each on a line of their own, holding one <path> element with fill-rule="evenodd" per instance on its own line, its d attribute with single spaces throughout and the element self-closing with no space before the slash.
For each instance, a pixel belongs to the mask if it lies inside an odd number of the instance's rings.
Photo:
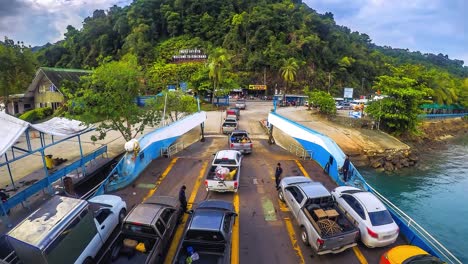
<svg viewBox="0 0 468 264">
<path fill-rule="evenodd" d="M 208 60 L 208 68 L 210 70 L 208 76 L 213 81 L 211 103 L 213 103 L 215 91 L 219 89 L 219 85 L 224 81 L 226 72 L 231 68 L 229 59 L 227 51 L 223 48 L 216 48 L 210 55 Z"/>
</svg>

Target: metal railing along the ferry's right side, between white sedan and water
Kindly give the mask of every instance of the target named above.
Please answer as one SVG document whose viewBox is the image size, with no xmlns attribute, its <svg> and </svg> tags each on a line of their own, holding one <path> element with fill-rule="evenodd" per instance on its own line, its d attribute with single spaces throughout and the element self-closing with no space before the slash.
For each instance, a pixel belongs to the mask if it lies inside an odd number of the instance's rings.
<svg viewBox="0 0 468 264">
<path fill-rule="evenodd" d="M 414 233 L 420 236 L 420 238 L 424 239 L 426 243 L 430 245 L 430 247 L 439 254 L 443 258 L 444 261 L 448 263 L 454 264 L 461 264 L 462 262 L 455 257 L 446 247 L 442 245 L 437 239 L 435 239 L 429 232 L 427 232 L 422 226 L 420 226 L 414 219 L 409 217 L 405 212 L 403 212 L 400 208 L 390 202 L 387 198 L 385 198 L 382 194 L 377 192 L 374 188 L 367 184 L 369 189 L 374 193 L 386 206 L 390 208 L 396 215 L 400 217 L 403 223 L 409 227 Z"/>
</svg>

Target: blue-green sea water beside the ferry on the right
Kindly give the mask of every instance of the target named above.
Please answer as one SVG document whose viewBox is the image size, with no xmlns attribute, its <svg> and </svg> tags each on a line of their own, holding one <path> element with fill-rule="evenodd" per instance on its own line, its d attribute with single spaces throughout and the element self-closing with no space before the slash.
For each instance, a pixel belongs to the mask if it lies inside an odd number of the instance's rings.
<svg viewBox="0 0 468 264">
<path fill-rule="evenodd" d="M 421 154 L 417 166 L 396 173 L 359 172 L 462 263 L 468 263 L 468 135 L 444 148 Z"/>
</svg>

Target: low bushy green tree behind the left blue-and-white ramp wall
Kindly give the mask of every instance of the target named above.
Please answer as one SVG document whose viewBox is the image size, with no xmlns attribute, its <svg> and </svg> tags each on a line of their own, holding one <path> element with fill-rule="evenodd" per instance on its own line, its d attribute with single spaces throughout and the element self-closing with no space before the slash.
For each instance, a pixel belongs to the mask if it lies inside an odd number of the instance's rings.
<svg viewBox="0 0 468 264">
<path fill-rule="evenodd" d="M 158 116 L 164 119 L 169 118 L 172 122 L 197 111 L 197 101 L 195 98 L 180 90 L 166 90 L 161 96 L 150 100 L 149 105 L 158 113 Z M 166 116 L 163 116 L 164 114 Z"/>
</svg>

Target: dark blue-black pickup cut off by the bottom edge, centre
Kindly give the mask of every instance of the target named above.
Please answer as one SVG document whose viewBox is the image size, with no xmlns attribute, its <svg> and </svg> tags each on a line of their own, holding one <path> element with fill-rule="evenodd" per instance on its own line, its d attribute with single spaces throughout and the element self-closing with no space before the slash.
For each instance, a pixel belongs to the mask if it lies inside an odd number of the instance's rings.
<svg viewBox="0 0 468 264">
<path fill-rule="evenodd" d="M 201 202 L 187 221 L 172 263 L 231 263 L 231 234 L 236 216 L 230 202 Z"/>
</svg>

